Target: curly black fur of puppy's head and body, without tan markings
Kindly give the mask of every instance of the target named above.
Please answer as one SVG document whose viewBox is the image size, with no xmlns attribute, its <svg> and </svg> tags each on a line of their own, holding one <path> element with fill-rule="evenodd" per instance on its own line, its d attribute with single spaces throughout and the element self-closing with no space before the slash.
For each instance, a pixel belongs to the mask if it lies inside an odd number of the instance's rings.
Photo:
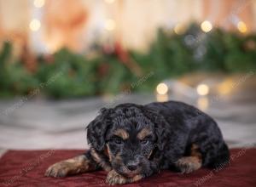
<svg viewBox="0 0 256 187">
<path fill-rule="evenodd" d="M 134 175 L 139 173 L 146 177 L 160 169 L 177 167 L 178 159 L 189 156 L 192 144 L 196 144 L 201 153 L 203 167 L 219 167 L 230 159 L 217 123 L 194 106 L 182 102 L 104 108 L 87 128 L 88 142 L 96 154 L 92 157 L 100 157 L 108 167 L 127 177 L 134 169 L 137 169 Z M 128 139 L 113 134 L 120 128 L 129 134 Z M 137 133 L 143 128 L 151 132 L 144 141 L 137 139 Z M 113 158 L 119 156 L 119 160 L 111 160 L 109 154 Z M 101 166 L 101 161 L 96 162 Z"/>
</svg>

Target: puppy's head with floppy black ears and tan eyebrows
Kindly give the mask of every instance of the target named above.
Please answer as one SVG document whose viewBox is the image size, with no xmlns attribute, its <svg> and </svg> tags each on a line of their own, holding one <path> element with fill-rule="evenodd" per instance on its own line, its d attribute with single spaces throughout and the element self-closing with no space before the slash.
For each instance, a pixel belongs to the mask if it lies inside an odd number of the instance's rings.
<svg viewBox="0 0 256 187">
<path fill-rule="evenodd" d="M 164 128 L 159 116 L 142 105 L 119 105 L 103 109 L 90 122 L 88 142 L 97 151 L 107 150 L 113 169 L 133 177 L 149 169 L 155 149 L 163 149 Z"/>
</svg>

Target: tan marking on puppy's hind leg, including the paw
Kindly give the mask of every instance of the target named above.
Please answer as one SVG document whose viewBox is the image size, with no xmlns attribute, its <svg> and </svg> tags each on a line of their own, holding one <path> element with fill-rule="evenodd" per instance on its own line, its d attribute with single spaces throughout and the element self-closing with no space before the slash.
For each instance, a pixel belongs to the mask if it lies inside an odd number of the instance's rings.
<svg viewBox="0 0 256 187">
<path fill-rule="evenodd" d="M 176 167 L 179 168 L 182 173 L 191 173 L 201 168 L 201 165 L 201 153 L 196 144 L 192 144 L 190 156 L 183 156 L 176 162 Z"/>
</svg>

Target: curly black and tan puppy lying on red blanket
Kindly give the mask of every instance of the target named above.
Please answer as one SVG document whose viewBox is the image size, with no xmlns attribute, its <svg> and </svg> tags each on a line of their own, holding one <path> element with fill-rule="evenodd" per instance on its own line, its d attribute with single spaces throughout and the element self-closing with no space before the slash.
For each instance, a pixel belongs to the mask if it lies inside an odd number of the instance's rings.
<svg viewBox="0 0 256 187">
<path fill-rule="evenodd" d="M 126 184 L 161 169 L 191 173 L 230 159 L 217 123 L 175 101 L 102 109 L 87 127 L 87 139 L 88 152 L 55 163 L 45 175 L 65 177 L 102 168 L 108 171 L 108 184 Z"/>
</svg>

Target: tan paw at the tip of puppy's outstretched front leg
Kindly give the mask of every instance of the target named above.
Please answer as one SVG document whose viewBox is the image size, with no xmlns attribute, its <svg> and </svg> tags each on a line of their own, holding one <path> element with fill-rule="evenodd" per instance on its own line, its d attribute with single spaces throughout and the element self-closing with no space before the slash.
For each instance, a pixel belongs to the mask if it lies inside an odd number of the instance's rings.
<svg viewBox="0 0 256 187">
<path fill-rule="evenodd" d="M 66 177 L 71 168 L 72 168 L 71 163 L 68 163 L 66 161 L 61 161 L 50 166 L 44 173 L 44 176 L 54 177 L 54 178 Z"/>
</svg>

